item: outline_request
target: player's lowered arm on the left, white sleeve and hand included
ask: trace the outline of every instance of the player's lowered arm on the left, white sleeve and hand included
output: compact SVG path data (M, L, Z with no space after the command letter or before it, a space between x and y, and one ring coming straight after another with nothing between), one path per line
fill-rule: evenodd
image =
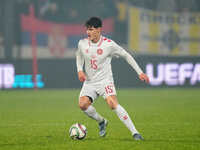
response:
M86 75L83 71L83 65L84 65L84 58L80 50L80 42L79 42L78 50L76 52L76 67L78 72L78 79L81 82L84 82L86 80Z

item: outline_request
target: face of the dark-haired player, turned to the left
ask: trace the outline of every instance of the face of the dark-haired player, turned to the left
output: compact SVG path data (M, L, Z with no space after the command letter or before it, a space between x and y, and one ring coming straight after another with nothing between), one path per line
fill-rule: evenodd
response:
M101 28L88 27L86 30L89 40L96 43L100 39Z

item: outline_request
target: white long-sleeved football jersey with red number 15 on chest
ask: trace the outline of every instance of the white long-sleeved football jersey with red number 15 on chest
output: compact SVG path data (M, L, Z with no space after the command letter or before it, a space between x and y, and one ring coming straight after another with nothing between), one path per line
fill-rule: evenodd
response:
M82 39L76 52L77 71L83 71L85 65L86 82L94 83L104 79L113 79L111 59L113 56L123 57L138 74L142 70L134 58L114 41L101 36L97 43Z

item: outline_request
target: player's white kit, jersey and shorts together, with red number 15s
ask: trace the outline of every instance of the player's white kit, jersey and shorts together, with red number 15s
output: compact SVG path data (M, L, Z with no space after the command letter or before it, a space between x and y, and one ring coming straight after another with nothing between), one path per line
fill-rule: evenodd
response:
M80 40L76 57L78 72L83 71L85 67L86 73L80 97L90 96L95 100L98 96L106 98L116 95L111 69L112 57L123 57L138 75L142 73L134 58L126 50L104 36L101 36L97 43L92 43L89 39Z

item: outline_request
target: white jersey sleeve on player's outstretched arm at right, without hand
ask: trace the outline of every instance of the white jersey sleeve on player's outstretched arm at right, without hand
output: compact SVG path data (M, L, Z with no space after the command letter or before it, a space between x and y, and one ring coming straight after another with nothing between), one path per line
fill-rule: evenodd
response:
M112 41L112 52L111 56L116 56L116 57L123 57L130 65L131 67L137 72L138 75L143 73L135 59L121 46L119 46L117 43Z

